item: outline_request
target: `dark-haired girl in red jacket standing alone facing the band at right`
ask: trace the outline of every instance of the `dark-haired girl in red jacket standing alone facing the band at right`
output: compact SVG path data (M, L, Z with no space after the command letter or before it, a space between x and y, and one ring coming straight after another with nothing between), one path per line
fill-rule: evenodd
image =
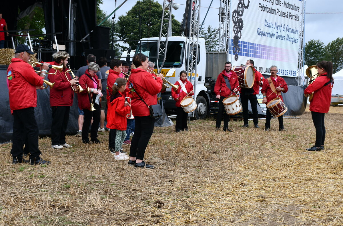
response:
M333 86L332 62L320 61L317 63L318 76L304 91L305 94L313 94L310 103L312 121L316 128L316 143L308 151L320 151L324 149L325 126L324 115L329 112L331 103L331 90Z

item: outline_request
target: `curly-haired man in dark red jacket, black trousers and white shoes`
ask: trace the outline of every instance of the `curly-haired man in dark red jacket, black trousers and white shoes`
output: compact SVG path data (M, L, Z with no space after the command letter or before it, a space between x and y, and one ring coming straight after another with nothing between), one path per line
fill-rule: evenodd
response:
M54 62L49 62L51 65L63 65L63 70L57 70L55 75L49 75L49 81L54 83L54 87L50 89L50 106L52 111L51 123L51 147L61 149L69 148L71 145L66 142L66 130L69 121L70 106L73 105L74 92L77 89L77 78L72 78L69 73L65 73L68 68L69 54L65 51L59 51L52 54ZM54 73L52 68L50 73ZM67 79L67 77L68 79Z

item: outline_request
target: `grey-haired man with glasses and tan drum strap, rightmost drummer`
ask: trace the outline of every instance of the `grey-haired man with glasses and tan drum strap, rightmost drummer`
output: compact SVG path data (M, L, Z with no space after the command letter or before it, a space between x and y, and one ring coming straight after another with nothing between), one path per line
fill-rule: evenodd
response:
M261 89L261 93L263 95L262 103L267 104L273 99L279 97L282 101L282 95L281 92L287 92L288 86L287 83L283 78L277 75L277 67L271 66L270 67L270 78L267 79L267 81L263 82L263 86ZM270 129L270 119L272 117L272 114L270 111L267 111L267 116L265 117L265 128L264 131L269 131ZM279 131L286 131L283 127L283 116L279 116Z

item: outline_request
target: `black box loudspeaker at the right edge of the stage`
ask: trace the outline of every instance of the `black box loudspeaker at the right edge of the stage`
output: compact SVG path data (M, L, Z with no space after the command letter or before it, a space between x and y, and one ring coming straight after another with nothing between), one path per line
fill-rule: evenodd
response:
M96 26L91 33L91 46L93 49L109 48L109 27Z

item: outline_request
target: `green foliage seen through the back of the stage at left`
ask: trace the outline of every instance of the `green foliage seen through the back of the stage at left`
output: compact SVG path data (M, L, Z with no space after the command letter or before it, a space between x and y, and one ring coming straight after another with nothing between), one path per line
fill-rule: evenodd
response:
M17 22L18 30L35 29L35 31L30 31L30 35L43 34L43 28L45 27L44 20L44 10L42 8L36 7L30 14L23 17ZM26 35L27 32L22 32L21 34ZM37 37L31 37L31 41ZM27 41L27 37L18 37L19 44L24 44Z

